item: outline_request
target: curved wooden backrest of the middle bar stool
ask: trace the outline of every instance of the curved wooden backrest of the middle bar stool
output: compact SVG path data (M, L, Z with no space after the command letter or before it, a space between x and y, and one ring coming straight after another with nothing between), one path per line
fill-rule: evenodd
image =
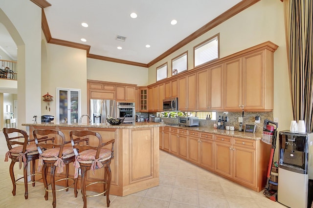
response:
M60 147L59 158L62 157L63 147L65 145L65 136L62 131L54 129L35 129L33 135L39 154L43 153L41 148L50 149ZM57 144L55 143L56 138L58 139Z

